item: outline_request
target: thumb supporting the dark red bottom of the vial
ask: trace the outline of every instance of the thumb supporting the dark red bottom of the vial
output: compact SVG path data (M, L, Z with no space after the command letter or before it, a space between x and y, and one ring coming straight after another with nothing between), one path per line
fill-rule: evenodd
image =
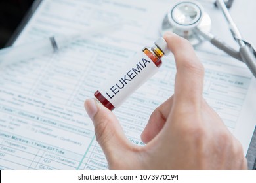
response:
M96 140L100 144L109 164L133 146L125 137L116 116L95 99L85 101L85 110L93 120Z

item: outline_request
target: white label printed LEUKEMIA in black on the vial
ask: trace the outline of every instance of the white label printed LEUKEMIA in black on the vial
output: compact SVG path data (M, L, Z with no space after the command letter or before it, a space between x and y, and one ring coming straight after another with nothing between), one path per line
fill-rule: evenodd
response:
M139 52L98 91L117 108L157 71L154 62L144 52Z

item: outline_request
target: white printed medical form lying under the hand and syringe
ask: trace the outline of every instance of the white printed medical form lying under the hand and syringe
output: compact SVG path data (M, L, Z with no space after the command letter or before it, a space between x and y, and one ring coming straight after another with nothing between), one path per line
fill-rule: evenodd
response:
M160 22L164 11L152 12L156 7L166 9L169 3L139 2L43 1L16 44L72 33L110 18L128 23L113 33L74 41L59 54L1 70L1 169L108 168L83 101L137 50L158 38L158 27L152 22ZM255 110L252 76L242 63L225 56L198 55L206 69L204 96L246 152L255 127L247 115ZM160 72L114 111L135 144L143 145L140 133L152 110L172 95L174 78L175 65L169 56Z

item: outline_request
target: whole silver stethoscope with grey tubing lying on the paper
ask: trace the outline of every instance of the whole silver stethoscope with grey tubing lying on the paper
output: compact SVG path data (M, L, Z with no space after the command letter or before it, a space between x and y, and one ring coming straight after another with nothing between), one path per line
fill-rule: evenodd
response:
M202 5L197 1L183 1L174 5L163 19L161 25L161 35L167 31L172 31L181 37L188 39L193 46L207 40L217 48L226 52L226 54L243 61L251 70L256 78L256 51L249 42L242 39L236 24L229 14L228 8L223 0L216 1L217 6L221 8L226 20L228 21L230 31L234 40L238 42L239 51L234 50L223 41L210 33L211 18L203 10Z

